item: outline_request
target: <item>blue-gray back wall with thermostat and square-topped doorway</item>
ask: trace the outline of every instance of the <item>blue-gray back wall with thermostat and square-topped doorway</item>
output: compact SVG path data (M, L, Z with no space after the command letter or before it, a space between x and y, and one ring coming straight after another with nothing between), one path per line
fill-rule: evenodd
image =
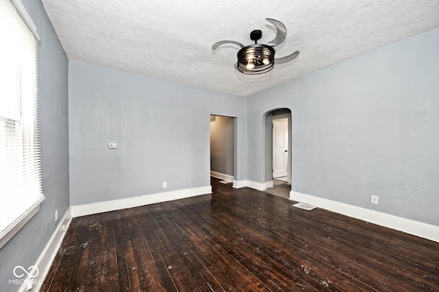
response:
M246 179L245 109L244 97L71 61L71 205L210 185L211 114L237 117Z

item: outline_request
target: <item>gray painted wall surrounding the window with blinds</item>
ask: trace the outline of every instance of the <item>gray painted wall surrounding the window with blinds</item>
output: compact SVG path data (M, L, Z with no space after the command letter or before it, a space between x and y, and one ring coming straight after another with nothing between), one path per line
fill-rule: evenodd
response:
M16 265L29 267L36 263L58 222L69 207L69 135L68 89L69 62L49 18L38 0L22 0L34 21L38 44L38 83L41 131L43 193L46 199L40 211L0 249L0 290L16 291L18 285L8 284L16 279Z

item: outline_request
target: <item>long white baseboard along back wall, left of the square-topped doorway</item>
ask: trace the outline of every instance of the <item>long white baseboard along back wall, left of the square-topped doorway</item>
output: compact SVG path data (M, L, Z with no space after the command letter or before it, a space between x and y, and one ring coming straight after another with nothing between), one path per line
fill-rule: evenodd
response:
M91 204L82 204L71 207L71 216L80 217L85 215L104 213L121 209L139 207L147 204L156 204L172 200L184 199L204 194L212 194L212 186L194 187L192 189L180 189L178 191L166 191L164 193L111 200L105 202L96 202Z

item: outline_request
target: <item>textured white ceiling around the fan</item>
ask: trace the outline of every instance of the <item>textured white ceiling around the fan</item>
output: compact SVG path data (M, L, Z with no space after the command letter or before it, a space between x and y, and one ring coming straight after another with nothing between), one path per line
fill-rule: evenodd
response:
M439 27L437 0L43 0L71 60L200 88L248 96L344 59ZM233 67L238 47L272 40L274 18L287 27L276 57L294 61L263 75Z

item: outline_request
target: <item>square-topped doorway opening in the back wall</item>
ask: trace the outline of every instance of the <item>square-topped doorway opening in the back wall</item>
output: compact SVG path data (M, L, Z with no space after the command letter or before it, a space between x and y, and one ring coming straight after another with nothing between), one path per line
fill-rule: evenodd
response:
M211 177L230 184L235 179L236 118L211 115Z

